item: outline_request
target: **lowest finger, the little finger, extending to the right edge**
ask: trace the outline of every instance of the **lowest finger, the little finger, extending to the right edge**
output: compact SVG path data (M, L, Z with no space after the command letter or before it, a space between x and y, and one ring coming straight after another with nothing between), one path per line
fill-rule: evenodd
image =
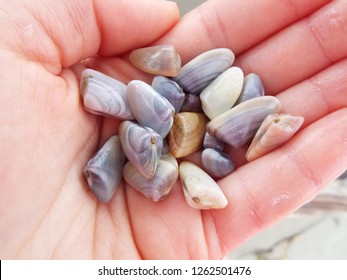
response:
M212 212L212 224L224 253L310 201L346 169L346 151L347 109L342 109L221 180L229 205Z

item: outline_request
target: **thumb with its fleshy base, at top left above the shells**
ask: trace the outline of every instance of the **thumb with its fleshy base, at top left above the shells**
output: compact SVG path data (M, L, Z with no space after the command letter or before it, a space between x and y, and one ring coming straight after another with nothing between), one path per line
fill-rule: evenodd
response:
M5 45L55 74L86 57L147 45L178 20L177 5L162 0L9 1L3 10Z

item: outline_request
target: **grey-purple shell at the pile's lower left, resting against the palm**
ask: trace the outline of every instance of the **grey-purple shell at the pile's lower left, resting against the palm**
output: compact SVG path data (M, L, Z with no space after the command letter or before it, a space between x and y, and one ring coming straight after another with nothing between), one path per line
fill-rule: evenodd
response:
M83 174L88 186L101 202L108 202L116 192L122 180L124 162L119 137L114 135L84 167Z

